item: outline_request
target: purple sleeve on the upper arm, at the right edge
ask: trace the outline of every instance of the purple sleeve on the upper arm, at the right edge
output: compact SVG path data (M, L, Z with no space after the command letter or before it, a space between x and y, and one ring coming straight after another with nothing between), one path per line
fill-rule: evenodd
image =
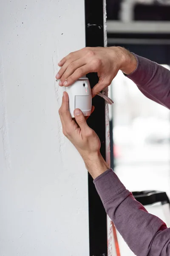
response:
M138 63L136 70L126 76L147 98L170 109L170 70L156 62L134 55Z

